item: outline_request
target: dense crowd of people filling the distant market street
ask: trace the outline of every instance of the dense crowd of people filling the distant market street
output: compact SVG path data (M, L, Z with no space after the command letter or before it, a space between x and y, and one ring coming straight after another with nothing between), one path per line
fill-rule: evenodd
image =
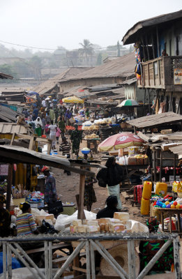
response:
M41 104L41 105L40 105ZM46 137L52 140L52 150L56 150L56 144L60 144L59 151L63 156L70 158L70 147L72 145L72 154L79 154L79 144L82 142L82 132L77 129L73 120L73 115L79 111L77 105L63 105L61 100L56 98L43 98L42 102L32 103L29 108L22 112L24 120L34 130L38 137ZM85 109L85 115L89 114L88 108ZM66 126L73 126L73 133L68 137Z

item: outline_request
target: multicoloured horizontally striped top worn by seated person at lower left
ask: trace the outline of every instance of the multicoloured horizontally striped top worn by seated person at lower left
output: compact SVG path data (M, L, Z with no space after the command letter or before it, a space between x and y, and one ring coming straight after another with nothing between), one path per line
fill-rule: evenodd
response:
M32 234L36 230L36 223L31 213L23 213L17 216L17 235Z

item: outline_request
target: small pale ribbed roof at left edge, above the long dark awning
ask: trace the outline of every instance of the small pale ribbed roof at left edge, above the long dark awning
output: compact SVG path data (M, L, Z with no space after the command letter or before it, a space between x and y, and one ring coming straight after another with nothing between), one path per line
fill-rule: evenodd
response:
M4 123L0 122L0 133L1 134L29 134L31 132L30 128L26 128L22 125L17 125L17 123Z

